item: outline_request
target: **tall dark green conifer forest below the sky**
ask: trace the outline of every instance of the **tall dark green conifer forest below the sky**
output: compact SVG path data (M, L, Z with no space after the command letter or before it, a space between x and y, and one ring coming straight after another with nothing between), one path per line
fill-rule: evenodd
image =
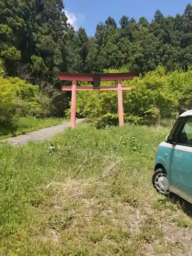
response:
M68 23L62 0L1 0L0 61L4 78L37 85L62 115L69 94L61 92L57 72L103 72L125 68L142 75L163 66L186 72L192 63L192 6L151 23L143 16L113 17L98 23L94 36Z

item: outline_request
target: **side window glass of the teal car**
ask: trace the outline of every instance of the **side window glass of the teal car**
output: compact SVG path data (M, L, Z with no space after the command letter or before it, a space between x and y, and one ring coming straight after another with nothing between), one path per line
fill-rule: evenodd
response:
M192 146L192 118L188 118L178 134L178 144Z

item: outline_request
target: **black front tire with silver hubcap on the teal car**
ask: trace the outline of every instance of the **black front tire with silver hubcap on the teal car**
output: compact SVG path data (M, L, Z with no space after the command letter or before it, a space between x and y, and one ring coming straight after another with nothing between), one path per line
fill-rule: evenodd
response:
M152 182L153 186L155 187L159 194L168 195L170 193L169 181L164 169L157 169L154 172Z

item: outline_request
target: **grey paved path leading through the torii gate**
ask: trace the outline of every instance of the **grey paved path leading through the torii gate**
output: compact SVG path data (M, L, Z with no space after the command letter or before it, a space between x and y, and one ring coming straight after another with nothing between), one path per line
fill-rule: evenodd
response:
M84 119L77 119L76 123L80 123L84 121ZM17 137L11 137L8 139L0 140L0 142L11 142L13 145L23 145L26 144L28 141L34 140L45 140L51 138L53 135L57 133L62 133L63 129L70 127L70 122L65 122L62 124L58 124L52 127L44 128L39 131L27 133L24 135L19 135Z

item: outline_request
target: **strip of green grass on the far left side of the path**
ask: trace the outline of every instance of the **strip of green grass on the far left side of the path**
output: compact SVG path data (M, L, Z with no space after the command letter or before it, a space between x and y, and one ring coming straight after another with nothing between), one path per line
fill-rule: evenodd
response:
M64 121L63 118L54 118L54 117L49 117L49 118L36 118L32 116L19 117L17 122L17 131L14 134L7 134L7 135L0 136L0 140L30 133L46 127L53 126L53 125L57 125L62 123L63 121Z

